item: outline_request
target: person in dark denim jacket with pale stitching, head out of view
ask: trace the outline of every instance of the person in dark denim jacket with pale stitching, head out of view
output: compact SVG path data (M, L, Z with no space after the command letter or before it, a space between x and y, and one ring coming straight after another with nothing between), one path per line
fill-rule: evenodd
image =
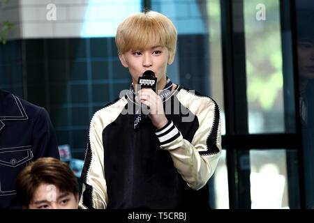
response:
M0 209L22 208L14 188L17 174L39 157L59 159L45 109L0 90L0 152Z

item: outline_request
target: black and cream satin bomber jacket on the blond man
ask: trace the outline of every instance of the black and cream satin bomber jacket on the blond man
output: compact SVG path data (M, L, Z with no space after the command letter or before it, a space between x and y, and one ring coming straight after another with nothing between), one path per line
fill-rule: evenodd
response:
M209 208L220 152L216 102L177 86L163 99L167 125L134 130L128 93L91 119L80 208Z

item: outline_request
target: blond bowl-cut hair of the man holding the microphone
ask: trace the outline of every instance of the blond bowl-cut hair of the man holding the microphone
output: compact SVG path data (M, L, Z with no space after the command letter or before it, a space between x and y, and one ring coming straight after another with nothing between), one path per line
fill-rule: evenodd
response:
M135 13L119 24L116 44L119 54L130 49L167 47L172 60L177 48L177 29L170 19L155 11Z

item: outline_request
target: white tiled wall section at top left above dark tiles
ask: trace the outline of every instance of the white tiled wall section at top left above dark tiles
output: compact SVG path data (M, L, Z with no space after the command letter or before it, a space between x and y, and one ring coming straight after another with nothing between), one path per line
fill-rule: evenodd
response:
M8 38L107 37L140 8L140 0L10 0L0 7L0 22L15 24Z

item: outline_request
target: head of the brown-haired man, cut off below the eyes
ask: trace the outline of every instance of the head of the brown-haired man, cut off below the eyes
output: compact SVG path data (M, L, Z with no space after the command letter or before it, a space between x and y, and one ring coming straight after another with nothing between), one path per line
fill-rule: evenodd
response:
M17 198L24 209L77 209L78 184L66 162L44 157L19 174Z

